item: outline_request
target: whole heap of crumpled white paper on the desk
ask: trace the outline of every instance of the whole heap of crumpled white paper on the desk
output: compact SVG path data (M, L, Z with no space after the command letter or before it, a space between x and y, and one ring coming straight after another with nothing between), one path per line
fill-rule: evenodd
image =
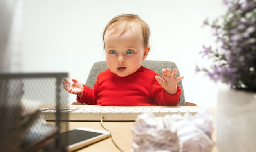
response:
M155 117L138 115L132 126L131 152L211 152L215 123L209 109Z

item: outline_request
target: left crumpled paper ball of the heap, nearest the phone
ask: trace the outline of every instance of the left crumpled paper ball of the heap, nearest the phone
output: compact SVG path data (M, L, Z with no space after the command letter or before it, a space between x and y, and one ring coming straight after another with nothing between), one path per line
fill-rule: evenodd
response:
M153 113L139 115L132 127L132 152L155 152L168 150L179 152L177 130L170 115L155 117ZM168 152L166 151L166 152Z

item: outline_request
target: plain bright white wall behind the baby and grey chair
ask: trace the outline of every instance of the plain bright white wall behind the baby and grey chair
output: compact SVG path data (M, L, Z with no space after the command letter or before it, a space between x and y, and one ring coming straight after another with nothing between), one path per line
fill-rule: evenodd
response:
M112 17L135 13L151 29L147 59L174 61L185 78L187 102L215 106L217 85L196 64L208 64L198 54L211 44L211 30L201 28L206 17L222 15L221 0L24 0L24 72L68 72L85 83L92 64L105 60L102 32ZM76 100L70 95L70 103Z

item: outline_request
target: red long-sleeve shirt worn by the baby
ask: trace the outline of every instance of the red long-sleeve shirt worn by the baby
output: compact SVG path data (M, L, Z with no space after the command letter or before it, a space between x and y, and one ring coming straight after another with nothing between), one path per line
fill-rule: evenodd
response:
M83 85L84 91L77 101L103 106L177 106L181 89L168 94L157 82L153 70L141 66L135 73L119 77L109 69L97 77L93 89Z

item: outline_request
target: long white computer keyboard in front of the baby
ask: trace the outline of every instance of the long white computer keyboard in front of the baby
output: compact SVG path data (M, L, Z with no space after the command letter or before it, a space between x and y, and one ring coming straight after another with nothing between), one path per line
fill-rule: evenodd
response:
M55 120L55 108L40 108L43 119ZM101 116L104 116L103 121L135 121L137 116L142 113L153 113L156 117L184 114L186 112L192 115L198 112L195 107L83 107L83 108L61 108L61 113L68 113L69 121L100 121Z

